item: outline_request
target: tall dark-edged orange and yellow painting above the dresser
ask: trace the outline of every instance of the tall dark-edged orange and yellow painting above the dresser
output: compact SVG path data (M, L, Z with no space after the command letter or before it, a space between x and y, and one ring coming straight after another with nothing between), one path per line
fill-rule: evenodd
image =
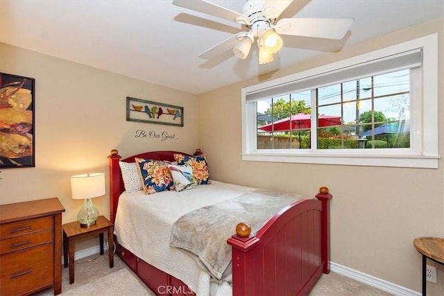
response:
M35 79L0 73L0 168L35 166Z

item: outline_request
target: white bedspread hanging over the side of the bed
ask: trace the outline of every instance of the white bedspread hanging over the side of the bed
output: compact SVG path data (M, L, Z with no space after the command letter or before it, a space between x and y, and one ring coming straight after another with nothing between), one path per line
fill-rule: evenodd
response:
M189 211L255 190L214 180L212 183L181 192L163 191L151 195L143 191L124 192L119 198L114 224L114 233L123 247L182 280L199 296L210 295L210 276L200 270L191 256L169 247L173 223Z

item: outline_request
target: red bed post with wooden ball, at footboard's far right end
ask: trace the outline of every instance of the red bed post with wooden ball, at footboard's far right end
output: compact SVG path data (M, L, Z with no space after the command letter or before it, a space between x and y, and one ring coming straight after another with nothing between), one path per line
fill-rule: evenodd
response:
M324 261L323 272L330 273L330 200L333 195L329 193L327 187L321 187L316 198L322 202L322 260Z

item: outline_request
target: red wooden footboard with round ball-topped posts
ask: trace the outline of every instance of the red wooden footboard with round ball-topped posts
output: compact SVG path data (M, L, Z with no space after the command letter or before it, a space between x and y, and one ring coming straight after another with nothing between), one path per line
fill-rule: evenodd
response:
M332 195L322 191L318 200L300 200L283 209L255 236L237 231L228 239L233 295L307 295L322 272L330 272L327 219Z

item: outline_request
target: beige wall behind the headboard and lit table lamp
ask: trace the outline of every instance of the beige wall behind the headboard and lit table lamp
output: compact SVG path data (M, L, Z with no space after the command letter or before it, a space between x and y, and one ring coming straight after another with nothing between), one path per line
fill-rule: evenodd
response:
M66 209L63 223L71 222L82 200L71 199L69 177L103 172L107 193L93 202L99 214L109 218L111 149L123 157L147 150L196 149L198 105L193 94L3 43L0 71L35 78L35 168L0 170L0 204L56 196ZM148 65L147 71L152 71ZM184 107L184 127L126 121L126 96ZM166 131L175 139L135 138L139 129Z

